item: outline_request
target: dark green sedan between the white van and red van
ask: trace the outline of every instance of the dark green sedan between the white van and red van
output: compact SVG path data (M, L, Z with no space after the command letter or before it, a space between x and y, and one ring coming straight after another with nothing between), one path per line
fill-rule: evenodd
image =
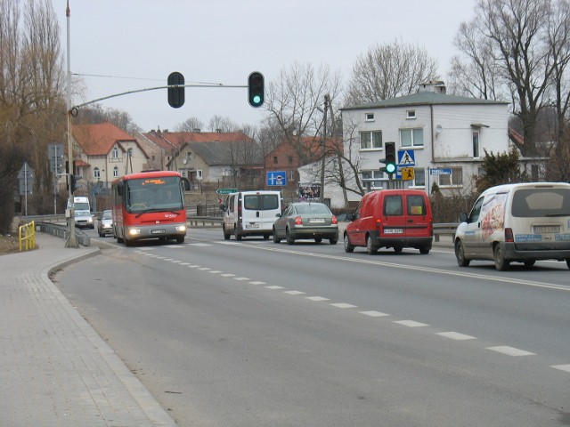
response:
M273 242L280 243L282 238L287 239L289 245L299 238L311 238L316 243L327 238L330 245L336 245L337 217L322 203L291 203L273 223Z

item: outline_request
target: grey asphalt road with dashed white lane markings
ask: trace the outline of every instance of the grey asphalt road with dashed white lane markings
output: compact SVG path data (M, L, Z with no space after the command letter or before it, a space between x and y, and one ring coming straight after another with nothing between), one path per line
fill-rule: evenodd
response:
M566 263L105 241L57 284L180 425L570 425Z

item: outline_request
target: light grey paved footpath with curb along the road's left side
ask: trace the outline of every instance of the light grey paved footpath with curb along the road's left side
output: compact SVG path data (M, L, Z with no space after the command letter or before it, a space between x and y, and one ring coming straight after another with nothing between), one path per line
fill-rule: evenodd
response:
M0 256L0 426L175 426L49 279L99 249L37 246Z

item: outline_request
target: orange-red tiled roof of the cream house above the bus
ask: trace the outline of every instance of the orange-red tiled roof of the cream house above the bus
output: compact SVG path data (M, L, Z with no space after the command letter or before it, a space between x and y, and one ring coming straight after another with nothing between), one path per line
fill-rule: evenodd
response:
M121 145L122 141L134 142L144 152L131 135L111 123L74 125L72 133L73 139L81 146L87 156L107 156L115 144L125 150Z

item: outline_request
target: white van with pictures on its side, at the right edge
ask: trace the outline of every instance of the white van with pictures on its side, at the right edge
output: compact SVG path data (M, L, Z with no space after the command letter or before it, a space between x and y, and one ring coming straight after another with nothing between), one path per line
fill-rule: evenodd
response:
M460 214L455 257L493 260L497 270L510 262L566 261L570 269L570 184L527 182L486 189L469 214Z

